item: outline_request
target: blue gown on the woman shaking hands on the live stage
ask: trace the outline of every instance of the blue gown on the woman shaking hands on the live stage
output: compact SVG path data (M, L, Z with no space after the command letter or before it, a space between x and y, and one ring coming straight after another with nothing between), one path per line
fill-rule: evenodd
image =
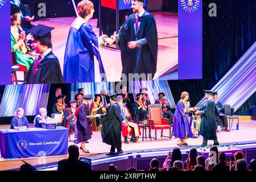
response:
M174 113L174 136L180 139L193 137L191 127L188 121L188 113L185 113L185 105L182 101L177 102L176 110Z

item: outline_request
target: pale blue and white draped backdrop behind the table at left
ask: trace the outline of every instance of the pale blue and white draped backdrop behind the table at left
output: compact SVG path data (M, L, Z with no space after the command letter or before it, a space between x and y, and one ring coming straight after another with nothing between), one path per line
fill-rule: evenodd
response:
M40 107L47 107L49 84L6 85L0 105L0 117L11 117L19 107L24 115L37 115Z

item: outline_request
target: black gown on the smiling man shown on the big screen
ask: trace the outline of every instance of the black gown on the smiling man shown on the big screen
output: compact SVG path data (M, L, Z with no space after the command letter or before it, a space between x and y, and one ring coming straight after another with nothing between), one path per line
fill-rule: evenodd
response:
M122 73L152 73L156 72L158 55L158 35L154 17L147 11L139 17L139 30L135 34L135 14L131 14L119 31L119 47L121 49ZM142 47L130 49L127 44L145 38L147 43ZM154 76L154 75L153 75Z

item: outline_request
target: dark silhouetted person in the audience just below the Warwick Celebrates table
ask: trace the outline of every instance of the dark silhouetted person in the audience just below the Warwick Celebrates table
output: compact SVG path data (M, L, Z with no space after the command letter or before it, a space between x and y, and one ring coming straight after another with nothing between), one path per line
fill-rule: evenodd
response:
M58 162L57 171L92 171L88 163L79 160L79 148L74 144L68 147L68 159Z

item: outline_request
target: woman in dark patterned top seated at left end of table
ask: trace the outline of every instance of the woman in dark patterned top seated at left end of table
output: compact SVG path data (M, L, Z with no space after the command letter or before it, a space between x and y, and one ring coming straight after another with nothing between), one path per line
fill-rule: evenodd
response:
M24 117L24 109L18 108L14 113L14 118L11 119L11 129L20 130L27 129L28 121L27 118Z

